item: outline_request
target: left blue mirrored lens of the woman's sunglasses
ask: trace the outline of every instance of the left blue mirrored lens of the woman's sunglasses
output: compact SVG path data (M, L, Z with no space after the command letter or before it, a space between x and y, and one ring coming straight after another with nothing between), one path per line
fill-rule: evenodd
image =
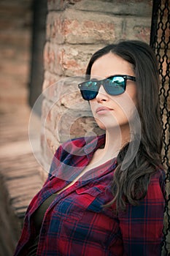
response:
M86 100L96 98L98 94L98 85L96 81L86 81L81 84L82 97Z

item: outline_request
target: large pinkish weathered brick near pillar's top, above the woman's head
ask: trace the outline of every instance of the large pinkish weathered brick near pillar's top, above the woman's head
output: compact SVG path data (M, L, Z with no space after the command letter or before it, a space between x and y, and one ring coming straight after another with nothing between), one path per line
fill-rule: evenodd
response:
M65 10L52 12L47 18L47 39L61 44L109 43L115 39L115 23L121 23L121 17L99 15L95 13Z

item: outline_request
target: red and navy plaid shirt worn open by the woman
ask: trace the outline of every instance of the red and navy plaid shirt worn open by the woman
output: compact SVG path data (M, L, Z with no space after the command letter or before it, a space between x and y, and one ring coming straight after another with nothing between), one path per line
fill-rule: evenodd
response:
M58 148L47 181L28 206L15 256L27 255L34 241L31 219L34 211L47 197L74 180L75 173L81 173L104 140L104 135L90 142L79 138ZM147 195L140 200L139 206L128 204L126 211L115 214L115 205L102 207L112 200L110 181L115 167L113 159L87 172L74 185L56 195L45 213L36 255L161 255L162 171L152 176Z

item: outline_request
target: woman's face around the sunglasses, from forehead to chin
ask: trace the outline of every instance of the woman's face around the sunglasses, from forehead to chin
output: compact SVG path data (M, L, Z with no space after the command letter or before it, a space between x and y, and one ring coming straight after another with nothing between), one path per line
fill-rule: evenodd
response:
M107 53L97 59L91 68L91 78L98 80L111 75L135 76L132 65L113 53ZM123 94L113 96L107 94L101 85L95 99L90 100L93 116L101 129L126 127L133 118L137 105L136 83L126 81L126 90Z

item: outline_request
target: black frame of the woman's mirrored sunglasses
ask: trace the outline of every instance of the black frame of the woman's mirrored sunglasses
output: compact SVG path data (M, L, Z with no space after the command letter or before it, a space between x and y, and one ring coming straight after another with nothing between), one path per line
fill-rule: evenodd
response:
M107 89L107 81L108 81L108 79L116 78L116 77L120 77L120 78L124 79L124 85L122 86L124 91L120 92L119 94L114 94L114 90L113 90L113 93L111 94L110 91ZM82 98L85 99L85 100L91 100L91 99L96 98L96 96L98 94L98 90L100 89L101 86L104 86L104 90L107 91L107 93L109 95L123 94L125 92L125 89L126 89L126 81L127 80L136 81L136 78L134 76L131 76L131 75L111 75L111 76L109 76L109 78L104 78L102 80L86 80L85 82L80 83L78 86L79 86L80 92L82 94ZM91 90L91 91L93 91L93 97L85 97L85 94L83 93L84 91L90 91L89 89L82 89L82 86L85 86L85 84L88 83L88 82L95 82L96 83L96 90L95 91ZM113 87L113 89L114 89L114 87ZM94 94L94 92L96 92L96 93Z

